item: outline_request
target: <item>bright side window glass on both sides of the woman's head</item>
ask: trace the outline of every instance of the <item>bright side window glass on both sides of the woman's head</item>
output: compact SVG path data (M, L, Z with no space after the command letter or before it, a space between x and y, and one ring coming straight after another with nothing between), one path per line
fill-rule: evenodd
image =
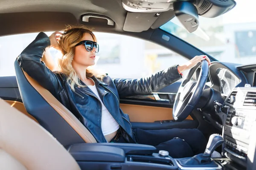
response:
M48 36L51 33L46 32ZM119 34L94 34L99 43L94 67L102 73L108 73L112 78L140 78L188 61L179 54L149 41ZM37 35L38 33L31 33L0 37L0 76L15 76L16 57ZM49 53L58 67L60 51L50 48Z

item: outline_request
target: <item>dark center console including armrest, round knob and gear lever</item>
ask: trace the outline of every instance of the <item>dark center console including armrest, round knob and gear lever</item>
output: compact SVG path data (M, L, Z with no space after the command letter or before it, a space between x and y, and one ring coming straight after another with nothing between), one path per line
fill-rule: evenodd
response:
M73 144L67 150L82 170L221 170L211 154L223 142L222 136L212 134L204 153L183 159L173 159L165 150L153 153L156 148L144 144Z

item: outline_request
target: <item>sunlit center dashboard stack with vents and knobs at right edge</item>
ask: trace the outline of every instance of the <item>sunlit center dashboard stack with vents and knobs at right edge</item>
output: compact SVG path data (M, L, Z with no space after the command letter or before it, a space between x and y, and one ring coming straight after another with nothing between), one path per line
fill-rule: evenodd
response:
M256 88L235 88L225 105L228 109L223 127L223 156L247 170L255 170Z

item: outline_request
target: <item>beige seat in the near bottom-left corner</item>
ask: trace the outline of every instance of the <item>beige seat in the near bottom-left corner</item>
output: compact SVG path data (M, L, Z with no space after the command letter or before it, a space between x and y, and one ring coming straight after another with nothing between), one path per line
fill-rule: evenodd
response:
M0 170L80 170L53 136L0 99Z

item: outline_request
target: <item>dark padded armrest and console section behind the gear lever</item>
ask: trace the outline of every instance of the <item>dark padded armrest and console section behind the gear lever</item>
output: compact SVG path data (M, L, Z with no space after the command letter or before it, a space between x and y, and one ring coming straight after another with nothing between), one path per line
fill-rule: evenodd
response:
M156 148L144 144L73 144L69 153L82 170L178 170L169 153L153 153Z

